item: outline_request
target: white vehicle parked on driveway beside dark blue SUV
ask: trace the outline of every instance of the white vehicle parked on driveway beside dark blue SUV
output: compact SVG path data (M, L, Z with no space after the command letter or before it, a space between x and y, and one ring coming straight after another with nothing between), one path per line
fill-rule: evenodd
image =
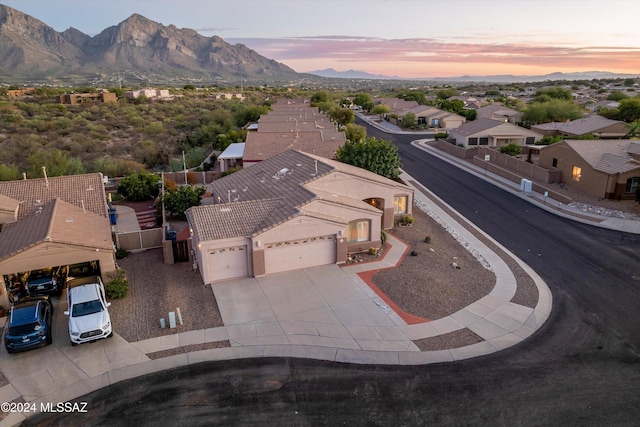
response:
M67 282L65 315L69 316L71 345L113 336L104 285L99 276L71 279Z

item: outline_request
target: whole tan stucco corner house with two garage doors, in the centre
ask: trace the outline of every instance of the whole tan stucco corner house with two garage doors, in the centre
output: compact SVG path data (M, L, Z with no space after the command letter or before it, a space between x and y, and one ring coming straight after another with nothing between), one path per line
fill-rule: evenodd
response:
M215 204L187 210L205 283L344 263L413 206L404 184L293 150L209 188Z

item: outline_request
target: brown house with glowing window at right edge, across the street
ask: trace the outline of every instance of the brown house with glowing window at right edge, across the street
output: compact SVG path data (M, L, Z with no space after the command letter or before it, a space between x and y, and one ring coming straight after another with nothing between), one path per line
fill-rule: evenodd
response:
M540 150L538 165L562 171L562 181L595 197L634 199L640 186L640 141L564 140Z

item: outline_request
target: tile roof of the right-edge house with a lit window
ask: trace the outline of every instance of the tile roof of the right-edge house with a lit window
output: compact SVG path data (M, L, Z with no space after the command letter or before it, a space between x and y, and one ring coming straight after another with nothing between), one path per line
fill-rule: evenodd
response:
M640 164L633 161L631 150L636 142L629 139L575 140L564 141L595 170L607 174L640 170ZM632 147L633 146L633 147Z

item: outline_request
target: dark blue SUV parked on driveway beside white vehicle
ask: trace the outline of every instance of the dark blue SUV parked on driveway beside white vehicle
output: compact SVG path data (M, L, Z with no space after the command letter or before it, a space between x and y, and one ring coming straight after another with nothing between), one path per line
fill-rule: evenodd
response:
M51 344L53 305L48 296L32 296L16 302L5 325L7 353L31 350Z

